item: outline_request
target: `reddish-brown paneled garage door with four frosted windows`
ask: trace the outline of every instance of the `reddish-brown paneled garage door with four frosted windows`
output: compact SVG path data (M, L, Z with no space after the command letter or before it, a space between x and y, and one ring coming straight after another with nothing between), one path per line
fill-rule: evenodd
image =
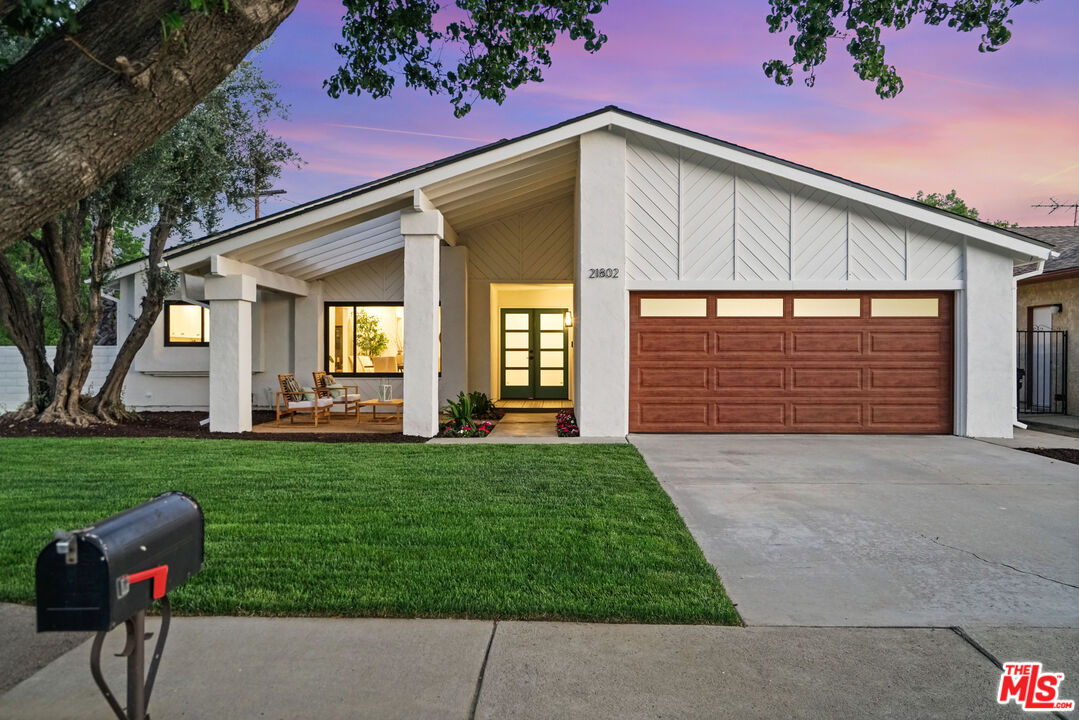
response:
M630 432L952 432L951 293L629 302Z

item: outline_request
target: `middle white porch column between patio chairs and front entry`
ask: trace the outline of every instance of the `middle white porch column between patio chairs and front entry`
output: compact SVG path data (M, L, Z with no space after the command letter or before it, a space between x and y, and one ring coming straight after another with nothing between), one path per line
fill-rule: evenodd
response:
M404 433L438 433L438 293L442 214L401 213L405 236Z

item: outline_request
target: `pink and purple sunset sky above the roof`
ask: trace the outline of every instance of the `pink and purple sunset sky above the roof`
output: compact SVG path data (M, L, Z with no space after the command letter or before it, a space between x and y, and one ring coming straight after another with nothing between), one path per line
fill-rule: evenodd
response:
M946 27L890 35L906 85L891 100L858 79L839 43L815 87L777 86L761 64L789 49L768 33L767 12L766 0L612 0L597 18L610 38L599 53L560 40L545 82L456 120L447 98L406 89L327 96L342 9L301 2L261 63L291 105L273 130L306 165L285 172L276 187L287 194L264 212L617 105L901 195L955 188L983 219L1071 223L1070 212L1030 205L1079 202L1079 2L1021 5L993 54Z

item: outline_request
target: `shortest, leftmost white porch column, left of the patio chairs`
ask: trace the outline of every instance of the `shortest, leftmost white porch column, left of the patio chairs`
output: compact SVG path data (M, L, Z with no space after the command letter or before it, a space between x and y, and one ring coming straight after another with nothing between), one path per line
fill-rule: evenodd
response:
M255 279L206 279L209 301L209 429L243 433L251 429L251 303Z

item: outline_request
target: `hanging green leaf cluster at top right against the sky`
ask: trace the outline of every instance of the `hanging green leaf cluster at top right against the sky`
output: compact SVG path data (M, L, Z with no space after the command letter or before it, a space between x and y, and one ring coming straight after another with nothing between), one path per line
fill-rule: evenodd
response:
M902 30L920 21L925 25L945 25L958 32L981 32L979 52L993 53L1011 39L1012 10L1023 2L1039 0L769 0L768 31L793 28L788 42L790 60L771 59L764 72L779 85L794 82L795 69L805 73L812 86L817 68L828 57L833 40L846 40L847 52L855 60L858 77L876 83L882 98L903 92L903 79L894 65L885 59L882 35Z

